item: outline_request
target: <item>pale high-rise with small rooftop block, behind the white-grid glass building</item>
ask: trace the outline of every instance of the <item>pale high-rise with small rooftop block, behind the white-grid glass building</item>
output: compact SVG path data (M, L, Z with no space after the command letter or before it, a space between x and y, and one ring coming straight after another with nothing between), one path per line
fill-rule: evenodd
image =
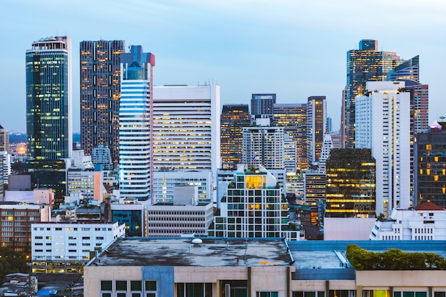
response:
M269 118L258 118L255 126L243 127L242 162L263 165L266 170L284 169L284 128L271 127Z

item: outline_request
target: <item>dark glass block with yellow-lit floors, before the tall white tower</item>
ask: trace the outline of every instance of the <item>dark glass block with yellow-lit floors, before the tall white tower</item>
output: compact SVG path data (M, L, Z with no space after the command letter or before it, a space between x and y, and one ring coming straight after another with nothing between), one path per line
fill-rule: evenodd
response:
M375 198L371 150L331 150L326 161L326 217L375 217Z

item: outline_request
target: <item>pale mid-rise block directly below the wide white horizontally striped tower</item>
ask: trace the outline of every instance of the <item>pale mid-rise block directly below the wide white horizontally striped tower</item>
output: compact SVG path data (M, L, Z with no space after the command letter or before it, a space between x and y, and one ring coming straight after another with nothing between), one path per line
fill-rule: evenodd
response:
M177 186L196 186L199 202L211 202L213 179L210 170L153 172L153 198L156 202L173 202Z

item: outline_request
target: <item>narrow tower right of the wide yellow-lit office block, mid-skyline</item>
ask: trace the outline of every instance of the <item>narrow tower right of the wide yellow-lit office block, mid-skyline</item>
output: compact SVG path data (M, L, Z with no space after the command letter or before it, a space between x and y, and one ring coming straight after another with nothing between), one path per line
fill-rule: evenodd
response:
M308 166L317 165L326 133L326 97L310 96L306 108L306 141Z

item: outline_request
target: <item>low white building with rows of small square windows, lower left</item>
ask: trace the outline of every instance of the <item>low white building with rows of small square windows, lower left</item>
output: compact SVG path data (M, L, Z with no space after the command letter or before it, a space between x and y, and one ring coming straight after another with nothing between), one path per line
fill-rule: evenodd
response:
M31 224L33 272L79 272L90 252L102 251L125 236L125 224L36 223Z

